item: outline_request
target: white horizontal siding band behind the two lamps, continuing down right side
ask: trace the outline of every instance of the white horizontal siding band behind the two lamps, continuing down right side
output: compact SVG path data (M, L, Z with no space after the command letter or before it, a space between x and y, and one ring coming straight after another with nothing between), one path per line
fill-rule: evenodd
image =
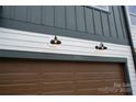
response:
M61 44L50 45L52 38L54 36L48 34L0 27L0 49L127 58L133 93L136 94L136 75L129 46L104 43L107 49L97 50L94 47L100 42L58 36Z

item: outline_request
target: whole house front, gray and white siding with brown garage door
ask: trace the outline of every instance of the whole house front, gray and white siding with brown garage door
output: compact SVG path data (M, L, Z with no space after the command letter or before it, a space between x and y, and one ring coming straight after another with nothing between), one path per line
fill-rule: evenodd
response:
M0 94L136 94L125 16L112 5L1 7Z

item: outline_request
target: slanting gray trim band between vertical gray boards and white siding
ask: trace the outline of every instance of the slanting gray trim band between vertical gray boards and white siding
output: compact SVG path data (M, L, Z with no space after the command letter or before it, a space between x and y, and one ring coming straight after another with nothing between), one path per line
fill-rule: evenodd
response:
M8 29L15 29L21 31L31 31L38 33L45 33L50 35L60 35L60 36L68 36L73 38L82 38L82 39L90 39L90 41L99 41L99 42L107 42L107 43L115 43L115 44L123 44L128 45L127 38L118 39L114 37L107 36L98 36L98 35L90 35L84 32L73 32L71 30L45 26L39 24L33 24L29 22L19 22L9 19L0 19L0 26L8 27Z

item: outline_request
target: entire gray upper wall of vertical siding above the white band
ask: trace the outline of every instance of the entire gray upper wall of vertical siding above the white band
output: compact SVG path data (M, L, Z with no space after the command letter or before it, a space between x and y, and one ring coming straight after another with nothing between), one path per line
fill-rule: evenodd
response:
M70 36L73 35L79 38L105 42L107 39L107 42L115 41L115 43L123 39L122 42L127 43L122 7L110 7L109 11L105 12L93 7L4 5L0 13L0 26L3 27L19 30L22 27L22 30L34 32L37 30L39 33L48 34L56 34L57 32L58 35L66 33L65 36L71 34ZM38 30L38 27L41 29ZM47 27L49 29L47 30Z

